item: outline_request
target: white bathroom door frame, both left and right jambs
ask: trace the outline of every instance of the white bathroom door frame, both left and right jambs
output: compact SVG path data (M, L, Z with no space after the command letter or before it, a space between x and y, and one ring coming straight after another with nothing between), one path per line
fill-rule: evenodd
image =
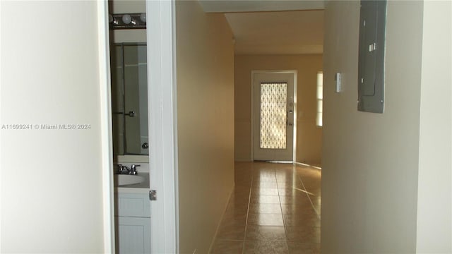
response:
M148 54L148 128L151 253L179 253L175 1L145 0ZM103 233L105 253L114 253L114 188L109 26L106 1L97 1L102 124ZM152 123L152 124L151 124Z

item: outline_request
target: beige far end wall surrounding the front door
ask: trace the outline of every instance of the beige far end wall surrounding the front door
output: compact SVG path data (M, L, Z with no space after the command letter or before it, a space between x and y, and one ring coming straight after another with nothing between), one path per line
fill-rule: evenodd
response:
M316 80L322 55L237 55L234 63L235 160L251 160L251 71L297 70L297 162L321 164Z

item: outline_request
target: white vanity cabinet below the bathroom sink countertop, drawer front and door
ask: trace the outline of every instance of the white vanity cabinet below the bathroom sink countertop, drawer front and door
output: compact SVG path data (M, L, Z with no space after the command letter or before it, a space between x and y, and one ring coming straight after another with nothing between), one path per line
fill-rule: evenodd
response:
M150 253L149 194L119 192L115 195L117 253Z

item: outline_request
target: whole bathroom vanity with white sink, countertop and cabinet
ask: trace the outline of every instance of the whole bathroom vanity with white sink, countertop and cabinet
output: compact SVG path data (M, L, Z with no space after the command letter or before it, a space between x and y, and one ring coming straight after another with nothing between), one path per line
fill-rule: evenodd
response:
M114 175L114 221L119 254L150 253L149 167L148 164L141 167L136 175Z

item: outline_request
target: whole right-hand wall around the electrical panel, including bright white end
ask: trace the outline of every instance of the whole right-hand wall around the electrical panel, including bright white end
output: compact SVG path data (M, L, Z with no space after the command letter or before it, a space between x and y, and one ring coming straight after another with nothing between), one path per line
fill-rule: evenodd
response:
M448 8L446 28L441 18L428 25L423 23L426 13L422 1L388 1L385 111L371 114L357 111L356 105L359 2L328 2L323 86L322 253L451 252L450 4ZM429 11L430 19L436 15ZM423 45L422 28L435 26L441 27L441 32L447 31L446 34L427 37L429 42ZM434 43L446 37L448 44L444 47ZM444 73L436 69L436 57L422 60L423 47L424 53L428 49L427 54L434 56L448 53L439 62L439 70ZM340 94L333 90L335 72L344 76L344 92ZM429 83L438 74L442 77L438 81L448 81L448 85ZM436 98L432 92L441 97ZM435 99L441 101L437 102L441 107L429 104ZM445 119L442 114L439 116L441 110L445 110ZM429 122L432 120L444 122L445 126L436 128L435 123ZM431 143L436 141L439 146ZM444 151L435 152L443 148ZM436 156L429 158L430 154ZM435 166L432 169L432 159L439 169ZM424 179L426 175L428 179ZM434 225L429 224L431 219ZM417 246L427 247L417 250Z

